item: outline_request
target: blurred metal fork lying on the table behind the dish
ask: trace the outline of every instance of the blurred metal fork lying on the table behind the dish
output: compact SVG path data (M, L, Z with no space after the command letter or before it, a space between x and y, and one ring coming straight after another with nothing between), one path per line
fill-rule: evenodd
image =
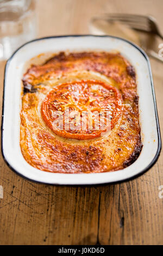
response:
M127 25L136 31L151 33L153 35L159 36L160 39L163 39L163 35L161 34L158 24L153 16L137 14L104 14L104 16L101 17L93 17L91 19L91 25L93 25L93 23L98 20L104 20L108 22L119 21L123 25ZM152 56L163 62L163 57L161 58L156 51L151 48L145 48L145 46L142 46L142 48L147 52L149 56Z

